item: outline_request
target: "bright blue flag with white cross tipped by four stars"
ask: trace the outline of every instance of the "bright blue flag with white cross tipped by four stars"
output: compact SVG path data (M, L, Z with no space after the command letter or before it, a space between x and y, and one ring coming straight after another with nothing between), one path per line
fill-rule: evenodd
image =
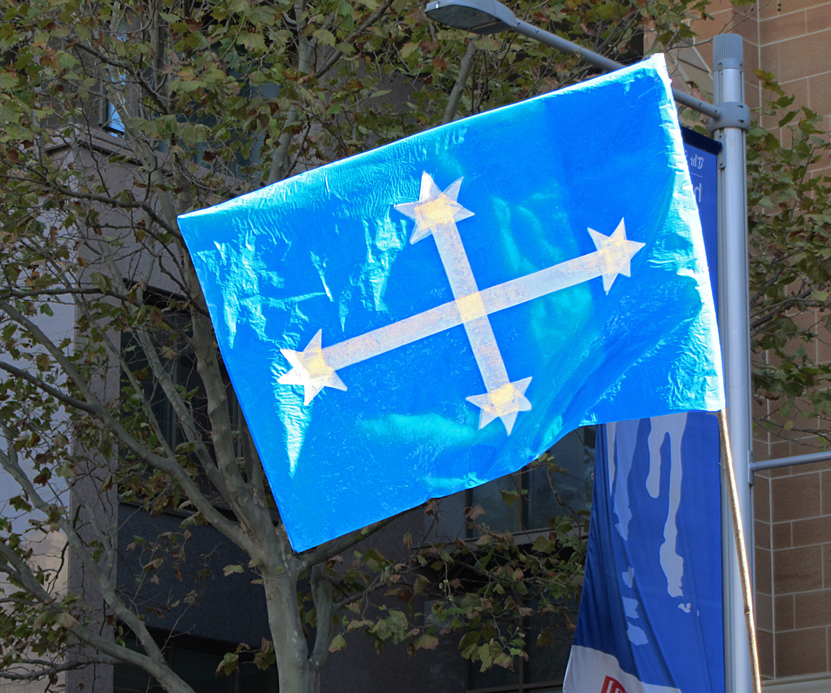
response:
M662 57L179 217L297 551L721 408Z

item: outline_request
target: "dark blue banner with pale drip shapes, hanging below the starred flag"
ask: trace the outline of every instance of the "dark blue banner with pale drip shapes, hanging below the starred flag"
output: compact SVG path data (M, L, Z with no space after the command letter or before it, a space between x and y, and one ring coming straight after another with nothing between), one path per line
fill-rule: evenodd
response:
M723 693L718 422L601 427L565 693Z

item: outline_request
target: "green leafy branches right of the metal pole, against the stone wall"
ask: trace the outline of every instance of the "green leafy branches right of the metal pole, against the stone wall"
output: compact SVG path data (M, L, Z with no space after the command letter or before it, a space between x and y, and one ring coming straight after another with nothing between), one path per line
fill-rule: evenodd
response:
M831 329L831 178L816 171L829 132L773 74L757 75L770 98L759 114L767 127L757 122L748 136L750 335L756 398L774 404L757 423L784 438L816 434L824 446L831 364L810 347L829 344Z

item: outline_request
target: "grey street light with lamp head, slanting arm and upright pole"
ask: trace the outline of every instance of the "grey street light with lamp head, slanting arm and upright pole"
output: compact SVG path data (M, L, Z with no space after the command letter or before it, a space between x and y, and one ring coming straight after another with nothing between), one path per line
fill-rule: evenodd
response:
M435 22L478 34L514 31L560 52L578 55L583 61L604 71L623 67L596 52L517 19L514 12L497 0L433 0L425 7L425 12ZM748 475L748 483L739 486L740 523L745 528L745 535L752 537L750 315L745 191L745 132L750 129L750 113L744 103L743 69L741 37L722 34L713 41L716 105L677 89L672 90L672 96L678 103L708 116L710 131L722 144L719 157L719 332L724 355L727 420L730 421L732 433L730 449L737 470ZM722 513L727 513L724 492ZM725 683L728 691L740 693L758 685L759 674L750 661L750 639L744 627L744 598L737 579L739 566L735 558L735 542L728 524L722 522L722 525L725 545ZM752 546L752 541L749 543Z

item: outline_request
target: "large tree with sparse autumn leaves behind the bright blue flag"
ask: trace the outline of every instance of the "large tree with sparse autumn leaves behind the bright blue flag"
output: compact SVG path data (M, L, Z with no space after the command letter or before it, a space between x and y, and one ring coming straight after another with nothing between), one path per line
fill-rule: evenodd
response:
M416 625L412 606L372 608L385 593L430 592L443 630L465 631L464 656L511 666L526 646L529 603L555 613L578 589L583 540L573 523L555 522L532 547L484 527L474 543L408 535L406 551L362 549L342 564L381 522L294 553L176 217L588 68L517 37L445 31L412 0L0 7L0 465L19 487L10 503L21 513L0 521L0 676L49 679L121 661L167 691L190 691L135 592L114 582L116 493L154 515L186 515L176 532L128 547L141 557L140 587L163 566L178 570L192 527L207 523L238 547L244 561L224 570L261 582L271 638L253 657L277 661L283 691L313 691L347 631L435 646L438 626ZM624 62L640 56L644 27L668 46L705 11L703 0L517 8ZM51 319L61 314L76 325L56 337ZM60 571L34 558L34 535L62 537L60 555L81 582L59 589ZM182 601L198 598L197 587ZM508 627L495 628L497 616ZM245 649L222 668L233 670Z

